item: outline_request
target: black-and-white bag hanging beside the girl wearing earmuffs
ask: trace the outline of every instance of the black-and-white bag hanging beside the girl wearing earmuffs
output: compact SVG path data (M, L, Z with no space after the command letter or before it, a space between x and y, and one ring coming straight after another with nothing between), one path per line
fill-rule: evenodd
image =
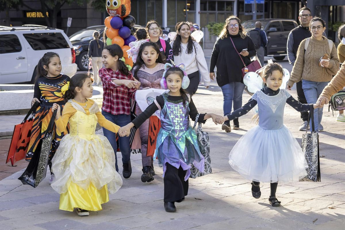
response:
M197 121L199 118L199 114L195 118L194 126L193 129L195 129ZM198 138L198 146L200 149L201 154L203 154L205 158L205 168L204 172L200 172L193 164L191 164L191 169L190 169L190 178L197 178L204 176L206 174L211 174L212 173L212 168L211 168L211 158L210 158L210 141L208 138L208 133L204 132L203 129L201 128L201 123L199 122L198 128L196 130L196 136Z

